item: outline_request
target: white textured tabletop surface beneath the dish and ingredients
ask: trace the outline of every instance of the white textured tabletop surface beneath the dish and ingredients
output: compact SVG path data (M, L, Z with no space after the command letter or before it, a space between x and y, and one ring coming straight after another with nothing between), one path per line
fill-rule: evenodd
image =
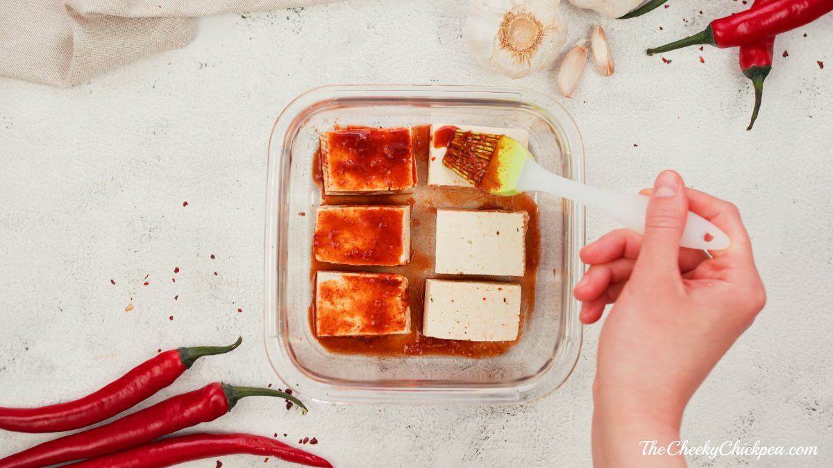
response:
M597 21L562 7L570 42ZM575 97L562 101L583 132L589 182L635 191L676 168L691 185L736 202L753 237L769 303L696 394L684 436L821 452L811 460L727 457L713 466L829 466L833 16L778 39L753 132L743 131L752 93L735 52L673 52L670 64L641 52L740 7L671 2L642 19L603 20L616 74L603 78L588 65ZM78 396L157 348L226 343L238 334L246 340L239 350L198 362L152 401L221 379L278 386L261 338L272 122L292 97L329 83L556 92L552 72L511 82L476 67L462 50L464 11L463 2L448 0L357 0L213 17L185 49L72 89L0 80L2 403ZM591 238L611 227L591 214ZM252 398L204 428L281 439L286 432L289 441L317 436L321 443L310 448L337 466L588 466L598 330L586 328L566 385L526 406L312 403L302 417ZM0 433L0 448L49 437ZM264 466L258 457L223 461Z

